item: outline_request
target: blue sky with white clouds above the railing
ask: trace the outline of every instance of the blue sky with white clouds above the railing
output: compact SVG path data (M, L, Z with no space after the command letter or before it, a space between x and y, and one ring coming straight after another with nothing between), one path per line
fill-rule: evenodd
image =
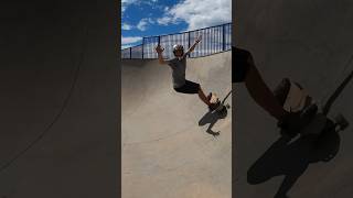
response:
M143 36L232 22L232 0L121 0L121 48Z

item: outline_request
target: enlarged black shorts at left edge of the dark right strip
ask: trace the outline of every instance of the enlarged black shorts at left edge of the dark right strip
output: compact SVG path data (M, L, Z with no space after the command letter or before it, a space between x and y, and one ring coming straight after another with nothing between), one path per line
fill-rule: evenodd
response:
M232 46L232 82L245 80L252 62L253 57L248 51Z

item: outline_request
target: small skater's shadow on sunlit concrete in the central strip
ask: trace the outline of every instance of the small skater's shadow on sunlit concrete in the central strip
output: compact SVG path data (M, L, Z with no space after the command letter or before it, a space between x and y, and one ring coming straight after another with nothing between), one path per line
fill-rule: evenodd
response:
M213 136L217 136L220 135L221 131L213 131L212 128L214 127L214 124L220 120L220 119L224 119L227 117L227 109L224 108L224 110L217 112L217 111L208 111L206 112L206 114L204 114L200 121L199 121L199 125L205 125L205 124L210 124L206 132L208 134L212 134Z

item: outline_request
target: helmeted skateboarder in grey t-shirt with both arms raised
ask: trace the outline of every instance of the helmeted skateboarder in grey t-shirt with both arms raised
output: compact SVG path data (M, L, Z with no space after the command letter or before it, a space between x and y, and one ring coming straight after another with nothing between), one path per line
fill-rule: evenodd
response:
M160 64L168 64L170 68L172 69L172 79L173 79L173 88L178 92L182 94L197 94L199 98L207 105L210 110L214 110L218 103L212 103L210 102L210 99L212 97L212 94L206 97L205 94L203 92L200 84L196 84L194 81L190 81L185 79L185 70L186 70L186 57L188 55L194 51L196 47L197 43L201 41L201 35L196 38L195 43L186 51L184 52L184 47L180 44L175 44L173 46L173 54L174 58L164 61L163 58L163 51L160 46L160 44L157 45L156 52L158 53L158 58Z

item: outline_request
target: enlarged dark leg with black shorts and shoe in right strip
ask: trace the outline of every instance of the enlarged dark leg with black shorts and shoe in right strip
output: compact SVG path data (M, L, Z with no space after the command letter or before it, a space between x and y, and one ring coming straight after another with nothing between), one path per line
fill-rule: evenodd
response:
M310 118L302 117L301 112L288 112L282 108L274 92L263 80L248 51L232 46L232 81L245 82L252 98L277 119L277 125L280 129L292 136L309 122Z

